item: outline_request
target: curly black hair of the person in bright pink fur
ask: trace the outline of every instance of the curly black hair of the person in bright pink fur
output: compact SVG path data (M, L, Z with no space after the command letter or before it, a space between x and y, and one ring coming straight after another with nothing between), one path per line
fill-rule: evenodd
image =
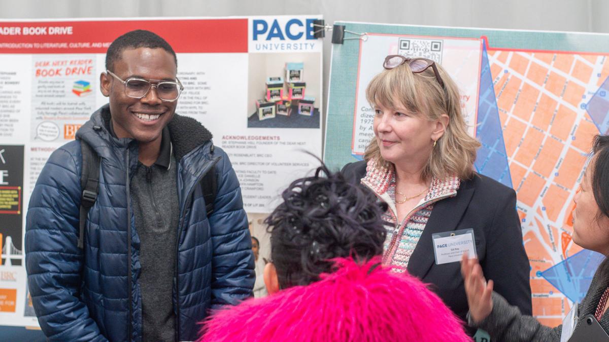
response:
M280 288L318 281L319 274L333 271L333 258L361 261L382 254L387 204L342 173L322 164L281 197L283 203L265 220Z

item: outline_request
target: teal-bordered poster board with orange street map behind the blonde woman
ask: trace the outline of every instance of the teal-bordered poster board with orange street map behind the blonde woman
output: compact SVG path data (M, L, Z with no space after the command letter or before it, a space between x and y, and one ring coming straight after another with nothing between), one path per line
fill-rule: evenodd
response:
M558 326L603 256L572 242L573 197L594 134L609 128L609 35L339 22L333 44L324 159L362 158L373 137L365 99L386 55L442 64L461 91L476 170L517 194L530 260L533 315ZM360 39L357 39L360 38Z

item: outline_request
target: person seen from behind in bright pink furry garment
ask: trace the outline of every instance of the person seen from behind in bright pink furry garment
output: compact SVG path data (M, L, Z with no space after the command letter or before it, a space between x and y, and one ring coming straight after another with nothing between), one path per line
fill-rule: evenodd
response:
M387 204L325 166L266 219L269 296L218 310L200 341L469 341L426 285L381 265Z

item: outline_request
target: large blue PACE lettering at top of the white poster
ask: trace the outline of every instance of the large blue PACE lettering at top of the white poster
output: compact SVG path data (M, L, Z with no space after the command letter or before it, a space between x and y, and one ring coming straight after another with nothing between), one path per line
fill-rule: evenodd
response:
M254 19L252 21L252 34L253 40L258 40L258 36L261 35L261 38L264 40L271 40L272 38L279 38L280 40L299 40L305 35L307 40L314 40L313 32L315 28L313 27L313 21L316 19L306 19L305 23L303 23L300 19L290 19L287 23L282 27L280 23L278 23L277 19L273 20L272 23L269 23L263 19ZM266 37L264 37L266 35Z

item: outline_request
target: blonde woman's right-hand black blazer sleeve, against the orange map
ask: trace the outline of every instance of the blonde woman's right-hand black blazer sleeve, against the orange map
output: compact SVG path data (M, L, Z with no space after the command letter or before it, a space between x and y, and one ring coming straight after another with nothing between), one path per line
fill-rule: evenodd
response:
M518 307L523 315L532 315L530 265L516 212L516 193L513 189L505 189L494 195L498 198L497 208L486 236L482 270L487 279L495 282L494 289L499 295Z

